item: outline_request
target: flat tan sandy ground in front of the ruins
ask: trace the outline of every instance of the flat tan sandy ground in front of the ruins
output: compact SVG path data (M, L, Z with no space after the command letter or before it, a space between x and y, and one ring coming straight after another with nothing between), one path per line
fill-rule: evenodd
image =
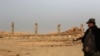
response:
M83 52L81 43L45 46L26 39L0 38L0 56L83 56Z

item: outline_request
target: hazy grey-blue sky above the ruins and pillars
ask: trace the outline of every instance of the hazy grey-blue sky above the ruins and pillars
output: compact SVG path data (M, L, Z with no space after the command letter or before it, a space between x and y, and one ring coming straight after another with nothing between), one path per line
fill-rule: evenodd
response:
M100 0L0 0L0 30L34 32L38 22L39 32L48 33L62 25L62 31L80 26L89 18L96 18L100 26Z

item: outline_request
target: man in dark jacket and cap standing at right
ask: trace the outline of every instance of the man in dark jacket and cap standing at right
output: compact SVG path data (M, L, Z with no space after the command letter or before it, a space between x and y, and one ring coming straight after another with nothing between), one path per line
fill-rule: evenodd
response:
M90 18L87 24L89 28L82 37L84 56L94 56L100 52L100 29L94 18Z

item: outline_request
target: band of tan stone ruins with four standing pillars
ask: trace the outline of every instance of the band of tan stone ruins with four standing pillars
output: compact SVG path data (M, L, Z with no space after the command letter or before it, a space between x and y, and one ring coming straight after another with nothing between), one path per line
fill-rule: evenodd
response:
M0 38L21 39L29 41L34 45L72 45L74 40L84 35L83 24L80 27L72 27L64 32L61 31L61 24L57 25L57 33L38 34L38 23L34 24L34 33L21 33L14 31L14 22L11 23L11 32L0 31ZM38 43L38 44L37 44Z

